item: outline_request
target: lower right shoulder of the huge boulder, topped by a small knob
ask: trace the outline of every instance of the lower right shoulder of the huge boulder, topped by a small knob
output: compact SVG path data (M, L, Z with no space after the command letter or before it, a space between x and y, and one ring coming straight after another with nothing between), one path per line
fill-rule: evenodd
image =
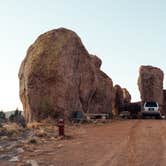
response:
M91 113L111 113L114 101L114 91L112 80L100 70L101 60L92 56L91 60L95 64L96 90L93 93L89 104L88 112Z

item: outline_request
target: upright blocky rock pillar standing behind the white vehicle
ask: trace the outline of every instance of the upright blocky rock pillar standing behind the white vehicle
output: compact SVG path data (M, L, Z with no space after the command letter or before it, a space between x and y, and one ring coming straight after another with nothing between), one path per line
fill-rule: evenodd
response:
M159 103L160 106L162 106L163 79L164 73L159 68L152 66L140 67L138 87L143 103L145 101L156 101Z

